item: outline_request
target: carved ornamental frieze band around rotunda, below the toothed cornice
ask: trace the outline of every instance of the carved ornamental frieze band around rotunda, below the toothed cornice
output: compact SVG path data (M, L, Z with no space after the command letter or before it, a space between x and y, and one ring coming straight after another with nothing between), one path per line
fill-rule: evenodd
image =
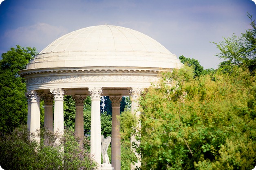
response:
M157 76L144 75L73 75L73 76L47 76L27 79L27 85L41 84L41 83L70 83L70 82L158 82Z

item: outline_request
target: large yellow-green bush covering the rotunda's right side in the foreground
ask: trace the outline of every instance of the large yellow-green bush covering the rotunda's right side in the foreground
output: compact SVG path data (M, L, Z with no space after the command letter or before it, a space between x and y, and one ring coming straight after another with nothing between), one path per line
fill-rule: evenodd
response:
M193 78L188 68L164 73L140 100L137 153L141 169L253 169L256 164L256 83L246 68ZM124 116L124 115L121 115ZM123 139L132 116L122 121ZM129 121L130 120L130 121ZM132 160L134 161L134 160Z

